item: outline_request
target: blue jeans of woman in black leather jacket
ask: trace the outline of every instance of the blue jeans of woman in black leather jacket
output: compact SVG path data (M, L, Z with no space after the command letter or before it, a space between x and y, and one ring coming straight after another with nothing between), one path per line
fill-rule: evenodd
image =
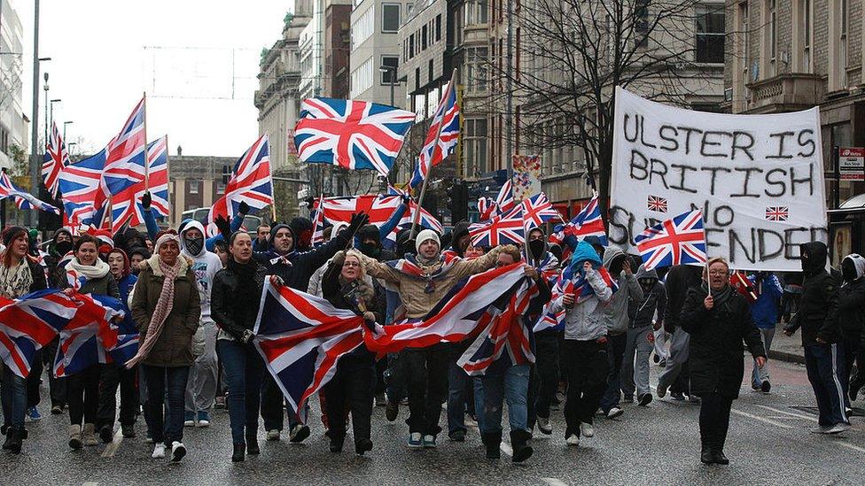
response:
M231 441L233 444L246 444L246 434L254 436L258 433L264 360L251 343L220 339L216 342L216 352L219 353L225 381L229 383L226 405L229 407ZM282 400L279 404L282 405Z

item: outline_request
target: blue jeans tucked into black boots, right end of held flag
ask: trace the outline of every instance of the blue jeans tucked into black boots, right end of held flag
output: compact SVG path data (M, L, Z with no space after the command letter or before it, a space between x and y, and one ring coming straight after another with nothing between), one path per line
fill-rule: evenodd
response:
M480 381L484 389L484 428L480 431L502 430L504 401L508 402L510 431L527 430L528 421L528 365L509 366L502 371L487 370ZM480 424L479 424L480 425Z

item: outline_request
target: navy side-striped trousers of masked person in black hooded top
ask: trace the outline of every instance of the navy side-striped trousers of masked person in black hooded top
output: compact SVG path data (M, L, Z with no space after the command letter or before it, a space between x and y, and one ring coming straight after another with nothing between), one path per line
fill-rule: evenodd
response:
M844 351L841 346L836 343L807 344L805 369L817 399L820 425L831 427L839 423L850 423L844 410L847 374L844 371Z

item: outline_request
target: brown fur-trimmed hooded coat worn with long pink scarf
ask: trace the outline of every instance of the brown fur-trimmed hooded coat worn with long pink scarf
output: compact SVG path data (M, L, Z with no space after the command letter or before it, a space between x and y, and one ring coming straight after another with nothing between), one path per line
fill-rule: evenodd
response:
M145 365L191 366L195 360L192 355L192 336L199 328L201 318L199 288L191 269L191 259L183 255L177 258L180 261L180 269L175 277L174 302L171 312L162 325L159 340L143 361ZM160 269L159 255L154 255L139 265L141 271L138 273L138 282L132 296L132 317L138 324L141 339L144 340L156 304L162 295L165 274Z

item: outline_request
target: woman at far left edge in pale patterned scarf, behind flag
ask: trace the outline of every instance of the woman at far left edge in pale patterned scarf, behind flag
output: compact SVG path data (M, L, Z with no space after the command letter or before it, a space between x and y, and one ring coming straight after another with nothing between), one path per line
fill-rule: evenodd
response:
M18 298L36 290L48 287L42 267L27 255L29 241L27 230L20 227L7 228L3 232L6 250L0 257L0 296ZM30 369L29 380L35 380L38 395L39 378L42 374L41 359L35 357ZM27 436L24 428L24 414L27 411L27 382L0 360L0 397L3 402L3 434L6 440L4 450L18 454L21 443Z

